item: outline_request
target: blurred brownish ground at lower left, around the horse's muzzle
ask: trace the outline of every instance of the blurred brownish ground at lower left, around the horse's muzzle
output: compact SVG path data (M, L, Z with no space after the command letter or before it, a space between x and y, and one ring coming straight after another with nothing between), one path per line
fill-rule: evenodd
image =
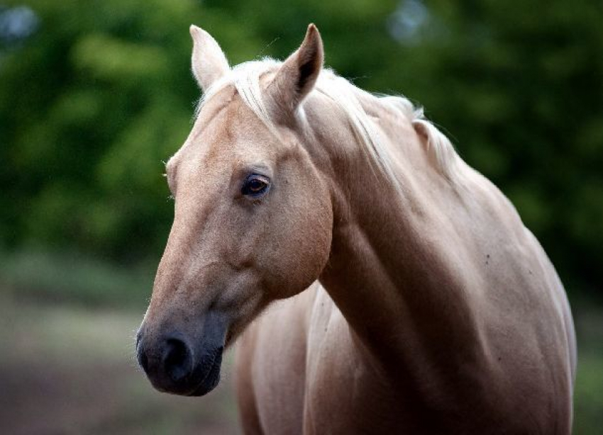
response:
M238 434L231 358L206 397L156 392L133 360L140 320L0 298L0 434Z

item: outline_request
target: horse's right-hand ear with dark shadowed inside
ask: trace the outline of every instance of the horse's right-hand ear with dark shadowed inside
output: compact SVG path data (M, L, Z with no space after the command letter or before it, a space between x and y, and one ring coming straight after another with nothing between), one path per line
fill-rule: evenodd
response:
M275 103L293 110L314 88L323 67L323 42L310 24L302 45L285 60L269 85Z

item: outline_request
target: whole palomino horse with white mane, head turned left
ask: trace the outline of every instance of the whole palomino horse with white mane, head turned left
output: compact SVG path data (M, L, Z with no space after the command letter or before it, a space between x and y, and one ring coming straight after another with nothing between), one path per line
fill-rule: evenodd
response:
M138 333L155 388L211 391L259 317L238 349L247 433L570 433L568 300L509 200L405 98L323 69L313 25L284 62L233 69L191 33L204 98L167 163Z

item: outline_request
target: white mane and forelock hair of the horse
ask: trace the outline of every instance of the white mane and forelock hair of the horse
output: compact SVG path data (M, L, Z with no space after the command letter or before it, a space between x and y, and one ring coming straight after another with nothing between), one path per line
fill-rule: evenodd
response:
M275 123L270 117L262 97L260 86L260 77L266 72L277 71L282 62L271 58L244 62L236 65L231 71L214 83L201 96L197 105L195 114L198 115L205 101L218 93L228 85L234 85L238 94L249 108L258 115L265 125L277 134ZM378 98L378 100L390 108L399 111L413 125L421 126L422 133L427 138L428 152L431 153L433 161L441 174L449 181L454 181L455 164L458 161L458 154L448 137L436 128L424 116L422 107L415 107L408 98L403 96L389 96L370 94L335 74L331 69L322 69L312 92L319 92L334 101L339 108L347 115L350 125L355 134L360 138L365 151L371 157L372 162L385 173L385 175L399 188L399 182L395 176L394 161L392 152L389 150L386 142L380 139L378 130L375 128L370 116L365 112L359 95L365 94ZM303 102L300 105L303 107Z

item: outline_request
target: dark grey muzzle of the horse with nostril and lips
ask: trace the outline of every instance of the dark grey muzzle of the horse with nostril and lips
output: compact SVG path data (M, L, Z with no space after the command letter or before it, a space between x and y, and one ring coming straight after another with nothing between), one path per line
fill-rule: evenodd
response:
M223 323L216 315L207 316L199 337L194 333L187 337L172 328L163 334L147 334L143 323L136 354L153 387L187 396L205 395L216 388L226 336Z

